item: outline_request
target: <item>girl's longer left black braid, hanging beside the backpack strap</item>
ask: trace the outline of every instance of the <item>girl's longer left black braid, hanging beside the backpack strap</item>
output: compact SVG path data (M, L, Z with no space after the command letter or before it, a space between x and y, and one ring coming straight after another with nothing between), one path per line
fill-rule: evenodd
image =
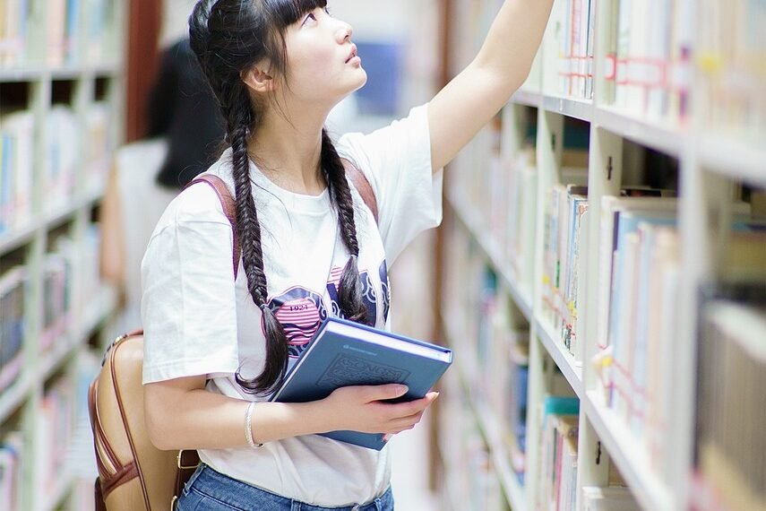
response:
M288 361L288 337L280 321L269 307L269 291L266 273L263 270L263 247L261 245L261 223L253 199L253 185L250 179L250 159L247 155L247 135L250 122L250 103L246 92L237 109L236 124L230 128L231 160L234 187L237 196L237 236L242 247L242 262L247 276L247 290L255 305L263 313L263 330L266 337L266 364L258 377L246 379L238 372L237 384L251 394L270 394L285 377Z

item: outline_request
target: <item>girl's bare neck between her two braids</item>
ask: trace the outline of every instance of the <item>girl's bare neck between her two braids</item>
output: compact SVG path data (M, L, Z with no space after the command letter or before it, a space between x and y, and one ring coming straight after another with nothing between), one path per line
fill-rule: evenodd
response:
M326 187L320 163L327 114L317 108L269 108L248 143L263 174L290 192L320 195Z

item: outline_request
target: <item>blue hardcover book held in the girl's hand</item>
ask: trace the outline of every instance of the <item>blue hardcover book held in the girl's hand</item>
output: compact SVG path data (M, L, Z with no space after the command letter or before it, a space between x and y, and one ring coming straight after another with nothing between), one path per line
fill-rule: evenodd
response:
M342 386L392 383L409 387L392 403L413 401L424 397L451 364L452 351L442 346L331 317L271 401L306 403ZM323 437L378 451L385 446L382 434L331 431Z

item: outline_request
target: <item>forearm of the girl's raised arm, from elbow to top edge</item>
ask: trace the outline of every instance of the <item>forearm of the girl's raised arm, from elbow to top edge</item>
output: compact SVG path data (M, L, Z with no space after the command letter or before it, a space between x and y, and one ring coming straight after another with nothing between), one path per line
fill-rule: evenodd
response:
M553 0L506 0L471 65L502 77L509 94L527 79Z

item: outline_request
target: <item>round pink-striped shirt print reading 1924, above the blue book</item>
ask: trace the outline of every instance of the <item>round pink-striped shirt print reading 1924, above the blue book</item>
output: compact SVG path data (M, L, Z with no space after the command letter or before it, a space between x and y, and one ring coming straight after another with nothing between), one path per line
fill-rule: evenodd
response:
M322 297L299 286L269 300L269 308L285 329L288 354L292 359L297 359L306 350L319 325L327 319Z

